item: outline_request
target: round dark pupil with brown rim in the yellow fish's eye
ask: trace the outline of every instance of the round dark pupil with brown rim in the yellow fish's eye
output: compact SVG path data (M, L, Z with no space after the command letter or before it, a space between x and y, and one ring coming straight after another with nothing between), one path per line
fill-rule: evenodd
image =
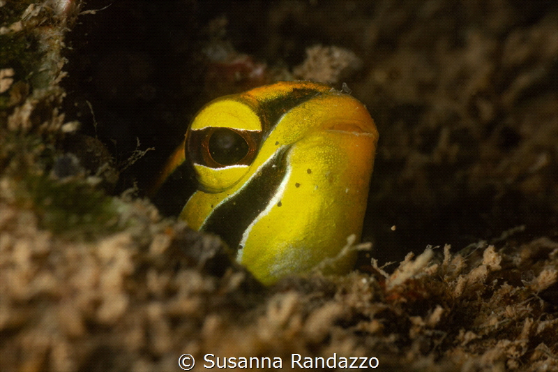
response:
M227 128L219 128L209 137L209 154L222 165L232 165L241 161L248 154L246 140Z

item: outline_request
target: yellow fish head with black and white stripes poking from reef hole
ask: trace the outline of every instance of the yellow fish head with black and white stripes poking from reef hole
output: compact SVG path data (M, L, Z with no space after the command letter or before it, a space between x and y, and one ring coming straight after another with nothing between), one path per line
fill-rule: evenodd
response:
M211 101L163 179L188 158L196 191L180 218L219 235L264 284L307 272L360 238L378 133L365 106L312 82ZM347 255L333 271L347 271Z

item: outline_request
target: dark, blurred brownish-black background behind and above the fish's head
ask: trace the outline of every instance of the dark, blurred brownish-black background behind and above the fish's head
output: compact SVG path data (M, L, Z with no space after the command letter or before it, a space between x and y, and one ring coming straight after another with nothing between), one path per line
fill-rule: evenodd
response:
M343 82L380 133L363 230L372 255L498 244L517 227L518 241L558 235L555 1L120 0L86 9L100 10L68 34L65 110L114 158L110 193L137 184L144 195L215 98L207 50L290 71L307 47L335 45L363 61ZM126 168L135 149L151 147ZM155 201L176 215L195 177L184 168L169 185Z

